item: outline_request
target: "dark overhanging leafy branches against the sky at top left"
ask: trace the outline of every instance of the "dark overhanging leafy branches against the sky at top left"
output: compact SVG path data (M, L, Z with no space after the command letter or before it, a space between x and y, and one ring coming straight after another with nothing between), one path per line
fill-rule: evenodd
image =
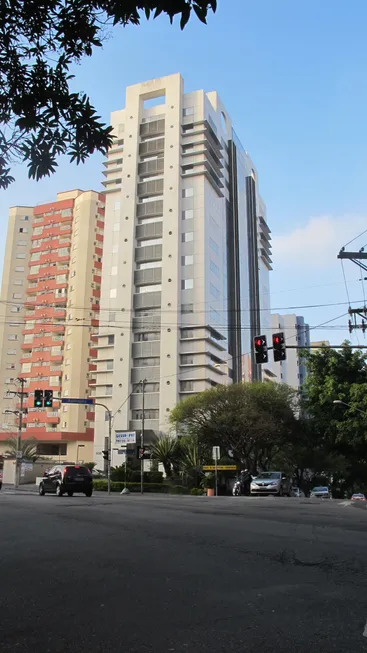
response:
M193 10L203 23L216 0L8 0L0 14L0 187L14 181L16 160L28 161L29 177L57 167L57 157L85 161L112 143L85 94L71 92L70 67L102 46L109 26L139 25L167 14L181 16L183 29Z

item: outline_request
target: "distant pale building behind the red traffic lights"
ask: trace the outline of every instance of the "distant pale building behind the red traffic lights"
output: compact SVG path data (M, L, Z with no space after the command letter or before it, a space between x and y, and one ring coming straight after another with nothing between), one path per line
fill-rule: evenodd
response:
M310 345L310 327L300 315L279 315L273 313L271 316L272 332L284 332L286 345L297 345L297 347L309 347ZM299 355L299 349L287 348L287 358L285 361L274 363L272 352L269 352L269 364L272 374L268 380L279 383L288 383L288 385L301 390L307 376L307 368L304 360ZM275 375L275 376L274 376Z

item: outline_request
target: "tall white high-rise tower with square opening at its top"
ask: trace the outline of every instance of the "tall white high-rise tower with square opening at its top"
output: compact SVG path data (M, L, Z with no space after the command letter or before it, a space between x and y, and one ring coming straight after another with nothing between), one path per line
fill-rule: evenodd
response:
M242 378L270 328L270 232L256 170L216 92L179 74L111 116L96 401L115 430L166 432L181 399ZM261 377L251 365L252 378ZM96 411L96 459L107 435Z

